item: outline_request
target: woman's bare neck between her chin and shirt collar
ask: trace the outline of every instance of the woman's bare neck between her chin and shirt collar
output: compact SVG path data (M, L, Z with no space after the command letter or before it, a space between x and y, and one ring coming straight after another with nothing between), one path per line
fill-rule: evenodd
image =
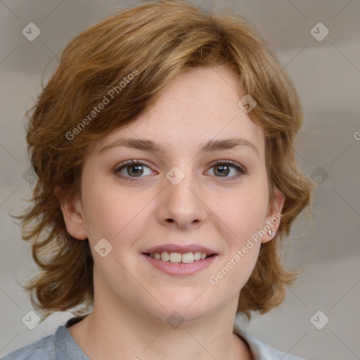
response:
M70 327L69 332L94 360L250 360L248 346L233 334L235 315L231 303L220 311L173 327L119 304L114 308L110 303L98 306L94 302L93 312Z

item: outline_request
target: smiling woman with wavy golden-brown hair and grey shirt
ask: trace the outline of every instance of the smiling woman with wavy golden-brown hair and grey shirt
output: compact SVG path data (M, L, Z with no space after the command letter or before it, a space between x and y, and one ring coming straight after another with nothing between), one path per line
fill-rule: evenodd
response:
M4 359L283 359L234 321L295 280L278 247L314 186L301 126L243 19L155 1L70 41L30 117L21 219L34 308L75 318Z

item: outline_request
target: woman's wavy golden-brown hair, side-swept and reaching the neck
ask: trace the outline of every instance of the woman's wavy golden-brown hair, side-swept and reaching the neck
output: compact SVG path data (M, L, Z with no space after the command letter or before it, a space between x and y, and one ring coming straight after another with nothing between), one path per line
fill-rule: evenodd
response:
M78 196L91 144L134 122L155 105L169 82L200 66L233 70L241 89L255 99L249 115L264 130L269 201L275 186L285 195L279 229L260 247L240 291L238 312L250 319L250 311L263 314L283 302L285 285L299 273L285 270L278 249L297 215L311 205L316 183L295 162L293 142L303 122L300 98L250 24L242 15L205 13L186 1L153 1L117 11L65 46L58 68L28 113L27 150L36 183L32 205L17 217L41 269L21 285L41 321L55 311L84 315L94 304L89 240L68 233L55 186ZM95 112L105 98L108 104Z

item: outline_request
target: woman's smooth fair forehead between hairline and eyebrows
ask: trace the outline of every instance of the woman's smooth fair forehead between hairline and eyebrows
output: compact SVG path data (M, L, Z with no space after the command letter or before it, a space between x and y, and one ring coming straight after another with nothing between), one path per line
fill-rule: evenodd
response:
M105 136L96 148L119 139L149 139L167 151L184 153L198 151L210 140L241 138L262 156L264 133L238 106L244 95L232 70L193 68L170 82L152 108Z

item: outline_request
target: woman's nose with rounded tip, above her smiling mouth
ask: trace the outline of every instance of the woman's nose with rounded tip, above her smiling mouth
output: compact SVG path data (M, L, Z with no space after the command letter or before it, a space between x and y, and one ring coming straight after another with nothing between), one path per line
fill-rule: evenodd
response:
M207 217L206 202L193 176L186 173L179 184L165 178L164 186L160 193L158 220L182 230L201 226Z

